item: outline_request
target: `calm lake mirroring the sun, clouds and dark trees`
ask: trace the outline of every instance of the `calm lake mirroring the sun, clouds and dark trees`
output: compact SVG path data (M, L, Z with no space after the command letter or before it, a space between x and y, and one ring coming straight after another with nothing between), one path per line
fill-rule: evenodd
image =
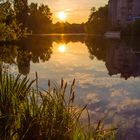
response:
M87 105L91 120L106 117L123 140L140 139L140 41L85 35L34 35L0 45L0 66L34 78L69 84L75 78L76 103Z

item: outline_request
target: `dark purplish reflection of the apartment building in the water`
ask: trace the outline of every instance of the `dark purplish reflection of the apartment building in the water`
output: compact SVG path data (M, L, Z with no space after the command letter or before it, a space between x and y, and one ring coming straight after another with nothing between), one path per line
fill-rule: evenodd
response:
M126 80L140 76L140 52L121 41L106 50L105 65L110 76L120 74Z

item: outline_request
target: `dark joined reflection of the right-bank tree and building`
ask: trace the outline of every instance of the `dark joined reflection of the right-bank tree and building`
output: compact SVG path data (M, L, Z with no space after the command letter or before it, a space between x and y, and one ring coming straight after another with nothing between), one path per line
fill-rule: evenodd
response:
M137 39L127 41L88 38L86 45L90 58L104 61L110 76L120 74L128 79L140 76L140 44Z

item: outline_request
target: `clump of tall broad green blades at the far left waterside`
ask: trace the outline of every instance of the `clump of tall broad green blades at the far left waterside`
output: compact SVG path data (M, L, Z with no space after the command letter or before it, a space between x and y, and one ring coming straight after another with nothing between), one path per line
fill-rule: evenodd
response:
M30 90L27 77L20 80L7 73L0 73L0 139L11 140L19 121L19 107Z

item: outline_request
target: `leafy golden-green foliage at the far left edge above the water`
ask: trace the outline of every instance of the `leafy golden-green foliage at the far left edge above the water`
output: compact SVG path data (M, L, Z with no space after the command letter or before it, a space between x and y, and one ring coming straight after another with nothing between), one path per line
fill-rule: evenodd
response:
M15 19L11 3L8 1L0 3L0 41L20 39L24 31L21 31L21 24Z

